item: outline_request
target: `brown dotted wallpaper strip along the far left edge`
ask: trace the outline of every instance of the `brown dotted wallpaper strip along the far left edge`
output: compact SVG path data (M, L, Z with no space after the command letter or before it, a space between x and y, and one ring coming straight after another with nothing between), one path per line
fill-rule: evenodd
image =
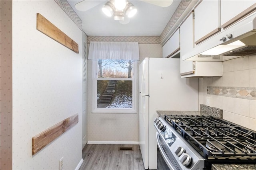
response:
M0 1L0 169L12 169L12 1Z

